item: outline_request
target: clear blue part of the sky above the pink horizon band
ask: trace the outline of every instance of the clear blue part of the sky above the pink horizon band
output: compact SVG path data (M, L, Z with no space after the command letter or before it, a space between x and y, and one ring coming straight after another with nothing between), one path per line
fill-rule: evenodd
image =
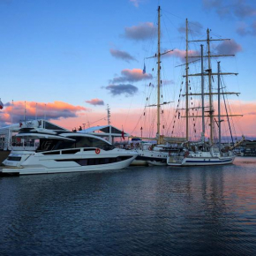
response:
M203 28L194 37L231 38L241 48L235 58L222 60L231 90L241 91L243 102L256 101L256 2L243 0L0 0L0 86L2 102L67 102L104 111L140 108L147 79L130 81L138 90L113 94L109 85L125 69L143 69L144 57L154 54L156 39L134 40L127 28L146 22L156 26L157 7L162 8L162 49L184 50L184 34L179 32L185 18ZM126 28L126 33L125 33ZM238 30L237 30L238 29ZM154 45L153 45L154 43ZM110 49L132 56L129 62ZM190 49L193 49L193 45ZM146 63L151 71L150 61ZM176 84L182 64L168 57L166 79ZM175 85L169 85L172 97ZM111 94L112 92L112 94ZM87 102L100 99L105 105ZM87 101L87 102L86 102ZM132 107L131 107L132 105Z

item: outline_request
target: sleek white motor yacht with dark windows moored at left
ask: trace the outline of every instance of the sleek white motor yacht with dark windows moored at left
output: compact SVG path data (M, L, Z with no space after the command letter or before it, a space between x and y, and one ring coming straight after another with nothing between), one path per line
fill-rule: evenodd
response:
M11 151L3 162L2 175L124 169L138 155L132 150L115 148L105 139L79 132L25 128L16 136L39 139L39 147L35 151Z

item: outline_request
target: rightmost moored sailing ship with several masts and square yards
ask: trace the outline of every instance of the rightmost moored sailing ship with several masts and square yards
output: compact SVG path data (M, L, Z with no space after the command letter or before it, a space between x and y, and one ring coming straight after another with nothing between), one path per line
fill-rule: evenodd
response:
M207 38L203 40L188 40L188 21L186 19L186 55L185 55L185 92L179 94L184 97L184 108L177 104L176 115L178 119L185 119L185 141L183 148L177 153L169 154L167 164L169 166L198 166L198 165L223 165L230 164L235 159L235 154L232 150L240 145L245 139L242 137L236 143L233 141L230 118L242 115L233 115L229 113L227 95L239 94L235 92L228 92L225 90L222 76L237 75L232 72L222 72L221 62L216 62L216 66L212 65L212 58L234 55L212 54L211 41L230 41L230 39L212 39L210 37L210 30L207 29ZM189 56L188 44L189 42L206 42L207 51L204 52L204 45L200 45L200 54L197 56ZM192 60L189 62L189 59ZM204 60L207 60L207 64ZM200 72L192 73L191 65L200 61ZM213 72L213 69L217 70ZM191 83L191 78L200 78L200 87L196 92L192 91L195 86ZM207 78L207 79L206 79ZM207 80L207 85L205 85ZM193 81L194 82L194 81ZM217 87L213 87L213 84ZM182 89L181 89L182 91ZM217 101L214 102L214 96L217 96ZM192 101L192 99L196 100ZM199 98L197 98L199 97ZM193 105L194 103L194 105ZM192 122L191 122L192 120ZM173 129L175 128L175 122ZM198 121L198 122L197 122ZM222 124L228 124L230 138L232 144L230 147L222 147ZM201 124L201 126L200 126ZM206 129L206 127L208 129ZM192 140L189 136L190 132L198 132L200 130L200 139ZM173 131L171 132L173 135ZM208 139L207 139L208 137Z

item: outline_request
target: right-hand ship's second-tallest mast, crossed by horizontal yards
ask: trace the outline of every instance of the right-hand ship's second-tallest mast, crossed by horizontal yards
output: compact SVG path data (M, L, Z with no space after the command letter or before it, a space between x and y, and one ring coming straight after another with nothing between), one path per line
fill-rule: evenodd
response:
M211 69L211 50L210 50L210 31L207 28L207 54L208 54L208 80L209 80L209 117L210 117L210 144L214 144L214 125L213 125L213 95L212 95L212 69Z

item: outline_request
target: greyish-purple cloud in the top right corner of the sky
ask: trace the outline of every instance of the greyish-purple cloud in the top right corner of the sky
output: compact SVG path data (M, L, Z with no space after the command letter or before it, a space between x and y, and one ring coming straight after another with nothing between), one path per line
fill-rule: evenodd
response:
M213 9L221 18L245 19L256 16L256 8L245 3L245 0L203 0L205 9Z

